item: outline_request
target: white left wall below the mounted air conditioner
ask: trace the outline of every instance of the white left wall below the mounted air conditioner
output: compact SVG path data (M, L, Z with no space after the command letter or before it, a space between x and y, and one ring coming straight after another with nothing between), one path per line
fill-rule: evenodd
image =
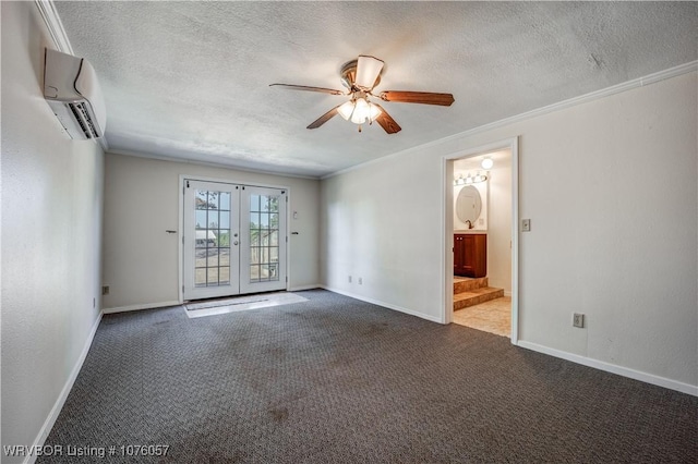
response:
M2 444L31 445L99 320L104 155L43 98L55 46L34 2L1 8Z

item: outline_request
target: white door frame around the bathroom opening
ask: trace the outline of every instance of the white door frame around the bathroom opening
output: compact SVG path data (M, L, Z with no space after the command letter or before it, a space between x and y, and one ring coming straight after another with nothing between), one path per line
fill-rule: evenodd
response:
M519 341L519 137L493 142L442 157L442 301L444 323L454 318L454 161L492 151L512 152L512 344Z

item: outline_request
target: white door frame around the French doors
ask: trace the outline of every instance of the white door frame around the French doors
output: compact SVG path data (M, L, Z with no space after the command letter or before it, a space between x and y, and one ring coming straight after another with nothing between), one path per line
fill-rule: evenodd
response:
M178 227L179 227L179 235L180 239L178 241L178 247L177 247L177 298L179 301L179 304L183 304L184 303L184 292L183 292L183 286L184 286L184 180L189 179L190 181L202 181L202 182L216 182L219 184L232 184L232 185L246 185L246 186L251 186L251 187L263 187L263 188L278 188L278 190L285 190L286 191L286 196L288 198L289 202L289 206L286 208L286 224L287 224L287 234L288 234L288 224L290 224L290 198L291 198L291 188L286 186L286 185L274 185L274 184L264 184L264 183L260 183L260 182L250 182L250 181L239 181L239 180L232 180L232 179L221 179L221 178L209 178L206 175L196 175L196 174L179 174L179 187L177 191L177 198L178 198ZM291 282L291 266L289 262L289 255L290 255L290 244L291 241L289 240L286 246L286 276L287 276L287 280L286 280L286 291L288 291L290 289L290 282Z

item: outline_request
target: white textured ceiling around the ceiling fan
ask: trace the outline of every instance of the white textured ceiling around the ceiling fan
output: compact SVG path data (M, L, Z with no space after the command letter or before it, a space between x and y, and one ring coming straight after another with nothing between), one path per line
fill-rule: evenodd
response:
M322 176L698 59L696 2L57 2L95 66L115 151ZM334 118L339 68L385 60L402 126Z

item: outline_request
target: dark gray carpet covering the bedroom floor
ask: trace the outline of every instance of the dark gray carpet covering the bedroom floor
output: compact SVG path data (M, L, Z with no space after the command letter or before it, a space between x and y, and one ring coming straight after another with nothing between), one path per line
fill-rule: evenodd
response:
M326 291L107 315L46 444L137 461L698 462L698 399ZM133 460L131 460L133 462Z

